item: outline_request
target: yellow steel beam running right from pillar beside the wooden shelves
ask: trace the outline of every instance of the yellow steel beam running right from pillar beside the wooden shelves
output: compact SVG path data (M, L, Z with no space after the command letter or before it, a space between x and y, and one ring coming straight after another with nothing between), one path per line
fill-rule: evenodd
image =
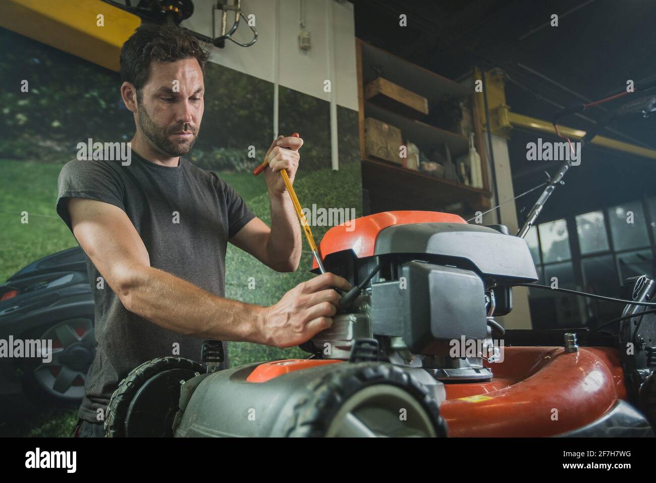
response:
M480 78L480 71L475 70L474 76ZM554 125L550 122L510 111L510 106L506 104L504 76L501 70L492 69L485 72L485 87L487 88L487 107L490 114L490 127L493 134L508 138L510 137L512 129L520 128L556 136L556 129L554 129ZM483 93L477 93L477 95L479 96L479 105L483 106ZM485 110L480 109L479 112L481 116L481 124L484 129L487 129ZM586 133L585 131L581 131L581 129L561 126L560 124L558 124L558 131L562 135L571 139L581 139ZM590 144L656 160L656 150L654 149L636 146L631 143L624 143L623 141L616 141L609 137L595 136L594 139L590 141Z

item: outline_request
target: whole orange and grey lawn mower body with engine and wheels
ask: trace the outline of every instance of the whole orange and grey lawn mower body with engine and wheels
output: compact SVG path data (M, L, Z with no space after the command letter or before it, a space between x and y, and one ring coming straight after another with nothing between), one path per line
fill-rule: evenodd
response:
M362 290L302 344L308 359L218 371L213 350L207 373L155 359L115 392L108 436L653 436L656 315L619 337L505 333L495 317L537 274L502 225L385 212L333 227L319 251ZM633 283L636 301L656 290Z

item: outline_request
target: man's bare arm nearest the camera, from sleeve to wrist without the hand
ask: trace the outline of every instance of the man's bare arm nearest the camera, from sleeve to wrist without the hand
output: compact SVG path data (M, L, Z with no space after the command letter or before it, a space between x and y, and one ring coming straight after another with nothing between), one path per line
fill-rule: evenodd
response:
M72 198L68 208L75 238L127 310L182 334L262 343L264 307L220 298L151 267L144 242L117 206Z

